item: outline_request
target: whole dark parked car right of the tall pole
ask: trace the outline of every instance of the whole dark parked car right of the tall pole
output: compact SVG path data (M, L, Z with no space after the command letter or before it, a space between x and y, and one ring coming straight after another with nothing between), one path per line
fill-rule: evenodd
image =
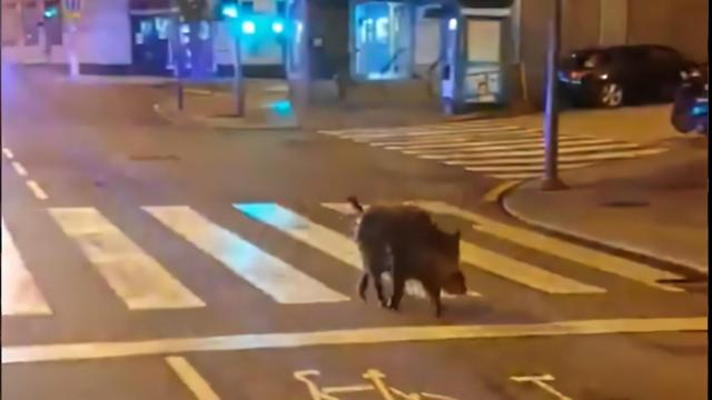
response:
M669 47L640 44L576 50L561 67L561 89L574 106L615 108L671 101L694 63Z

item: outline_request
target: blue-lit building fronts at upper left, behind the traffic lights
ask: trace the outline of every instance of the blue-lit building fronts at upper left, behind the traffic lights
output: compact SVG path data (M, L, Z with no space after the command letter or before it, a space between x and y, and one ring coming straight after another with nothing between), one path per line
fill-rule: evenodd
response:
M67 40L68 21L62 16L46 19L40 0L2 0L3 47L32 50L41 47L47 31L53 52L70 49ZM277 18L278 0L244 0L243 8L259 16ZM283 8L284 9L284 8ZM76 21L75 51L81 73L108 74L171 74L176 53L174 33L178 9L171 0L85 0L81 18ZM41 27L44 24L44 27ZM219 74L231 73L235 58L234 27L229 21L209 21L179 27L184 43L199 41L201 60ZM260 27L257 27L259 30ZM281 39L260 34L243 41L241 56L248 76L284 76ZM66 57L55 58L66 61Z

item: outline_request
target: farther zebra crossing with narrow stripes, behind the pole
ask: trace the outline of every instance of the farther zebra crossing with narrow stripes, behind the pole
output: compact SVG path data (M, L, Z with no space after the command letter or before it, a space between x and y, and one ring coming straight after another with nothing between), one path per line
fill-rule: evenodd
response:
M507 121L462 121L417 127L320 130L319 133L424 160L463 168L496 179L541 177L544 170L542 130ZM561 134L558 168L572 170L611 160L654 156L665 148L584 134Z

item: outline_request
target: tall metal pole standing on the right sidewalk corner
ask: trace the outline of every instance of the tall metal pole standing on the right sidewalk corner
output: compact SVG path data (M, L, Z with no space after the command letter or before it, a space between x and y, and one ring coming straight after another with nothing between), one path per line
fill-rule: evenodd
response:
M554 1L554 16L548 31L546 69L546 111L544 114L544 181L543 190L565 189L558 179L558 97L556 96L558 57L561 48L562 0Z

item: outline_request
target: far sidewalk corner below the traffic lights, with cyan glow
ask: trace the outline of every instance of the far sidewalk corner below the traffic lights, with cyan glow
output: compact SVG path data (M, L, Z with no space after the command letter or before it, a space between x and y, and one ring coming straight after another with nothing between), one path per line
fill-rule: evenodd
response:
M187 86L184 89L182 110L178 110L176 92L167 92L166 98L155 104L155 109L164 118L179 124L236 130L298 128L283 81L248 80L245 98L247 107L243 118L235 114L235 98L229 83Z

